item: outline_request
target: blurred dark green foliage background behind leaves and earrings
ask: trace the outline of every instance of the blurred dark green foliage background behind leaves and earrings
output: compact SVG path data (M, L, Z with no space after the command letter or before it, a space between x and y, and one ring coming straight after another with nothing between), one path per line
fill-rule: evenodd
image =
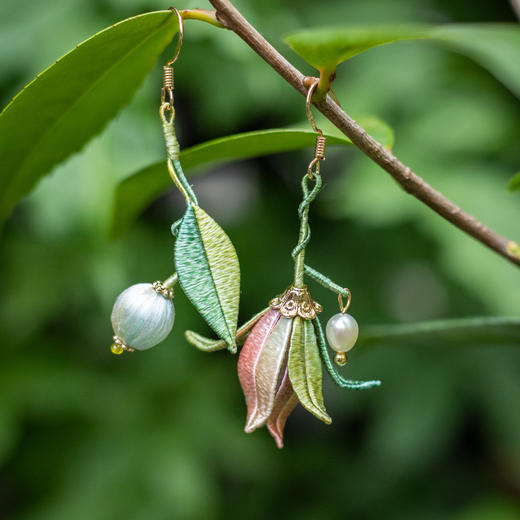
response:
M180 2L178 7L206 7ZM298 28L374 22L515 22L506 1L263 0L237 6L282 43ZM94 32L167 5L145 0L2 0L0 104ZM171 49L169 49L170 51ZM122 85L124 88L124 85ZM172 335L112 356L109 315L125 287L172 271L166 193L107 238L118 180L164 156L160 64L107 130L20 204L0 245L0 517L520 518L520 349L478 339L380 341L345 373L383 386L346 393L324 376L334 422L301 408L286 447L243 433L236 358L183 338L208 332L178 291ZM373 49L341 66L347 112L395 131L394 150L499 232L520 238L520 102L469 59L427 42ZM305 119L304 103L237 37L187 22L176 68L182 146ZM30 124L30 121L27 122ZM292 274L299 180L311 150L194 179L241 260L241 320ZM518 315L518 270L407 196L356 149L330 149L312 207L309 263L348 285L361 327ZM313 288L336 312L333 295Z

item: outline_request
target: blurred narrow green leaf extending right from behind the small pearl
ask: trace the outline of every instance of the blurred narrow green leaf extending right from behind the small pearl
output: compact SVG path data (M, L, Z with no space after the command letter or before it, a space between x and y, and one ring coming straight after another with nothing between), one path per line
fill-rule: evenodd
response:
M471 317L363 327L360 345L428 340L435 345L496 344L520 340L520 318Z

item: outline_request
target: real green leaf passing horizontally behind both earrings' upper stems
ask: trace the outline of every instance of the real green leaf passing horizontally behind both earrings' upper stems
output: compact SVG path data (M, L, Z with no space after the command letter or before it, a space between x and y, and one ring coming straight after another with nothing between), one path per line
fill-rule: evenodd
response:
M359 118L359 123L384 146L393 144L393 132L376 117ZM329 145L351 145L337 128L323 125ZM201 171L225 161L300 150L314 146L315 134L310 129L274 129L234 134L187 148L180 161L186 173ZM302 166L303 167L303 166ZM135 218L171 185L166 162L152 164L124 179L116 188L111 235L121 235Z

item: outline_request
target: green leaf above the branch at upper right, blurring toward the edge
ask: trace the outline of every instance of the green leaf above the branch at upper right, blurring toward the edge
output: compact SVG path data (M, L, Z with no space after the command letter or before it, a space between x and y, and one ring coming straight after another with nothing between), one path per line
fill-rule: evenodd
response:
M350 25L299 31L288 35L285 41L317 69L334 70L367 49L410 39L428 39L469 56L520 97L517 24Z

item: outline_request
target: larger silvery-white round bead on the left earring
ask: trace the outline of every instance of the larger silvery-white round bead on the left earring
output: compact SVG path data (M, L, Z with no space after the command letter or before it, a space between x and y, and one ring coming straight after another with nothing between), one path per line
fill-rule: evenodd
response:
M112 309L112 327L128 347L146 350L160 343L172 330L173 302L158 294L151 283L124 290Z

